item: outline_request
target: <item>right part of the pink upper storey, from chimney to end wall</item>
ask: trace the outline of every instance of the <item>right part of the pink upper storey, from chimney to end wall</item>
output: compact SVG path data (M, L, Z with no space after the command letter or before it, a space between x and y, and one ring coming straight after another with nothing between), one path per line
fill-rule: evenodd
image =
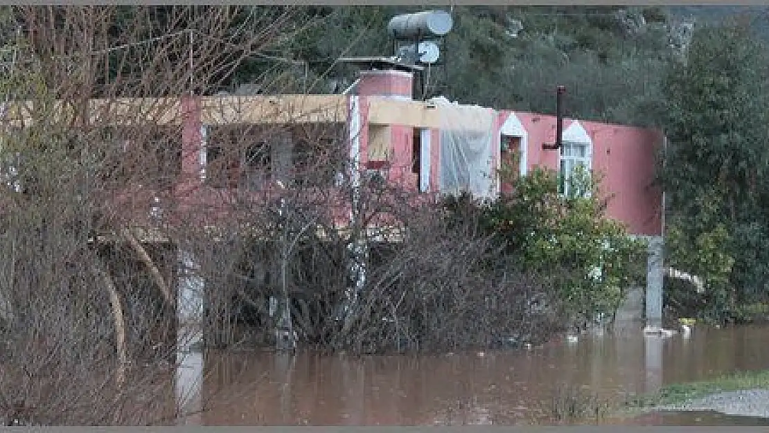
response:
M535 167L558 170L567 190L568 176L575 166L601 173L602 189L612 196L609 218L624 222L633 235L662 233L662 192L653 185L657 152L664 142L658 131L564 119L561 149L546 150L543 145L556 138L554 116L411 101L411 74L402 71L362 72L358 93L361 95L349 97L350 124L355 125L351 128L351 148L368 169L389 168L392 182L403 182L421 192L446 191L446 179L452 176L452 167L457 167L468 172L468 179L488 179L486 189L494 195L509 188L501 185L495 173L500 162L514 151L520 155L520 175ZM445 114L451 110L457 113ZM463 122L474 125L457 125ZM460 135L447 134L447 128L457 128ZM463 129L484 136L463 144ZM441 155L478 145L488 148L482 149L482 158L464 167L457 161L447 163L450 155ZM479 152L473 148L468 153Z

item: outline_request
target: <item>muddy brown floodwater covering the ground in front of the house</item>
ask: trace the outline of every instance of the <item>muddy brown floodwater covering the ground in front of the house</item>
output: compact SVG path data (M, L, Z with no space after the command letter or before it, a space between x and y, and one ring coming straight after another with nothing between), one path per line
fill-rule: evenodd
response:
M769 327L696 328L688 338L638 330L431 356L206 351L191 359L180 383L201 365L205 374L191 387L187 409L201 412L181 421L188 425L518 425L553 422L566 395L619 402L666 384L767 369ZM697 425L697 416L720 415L653 414L638 424Z

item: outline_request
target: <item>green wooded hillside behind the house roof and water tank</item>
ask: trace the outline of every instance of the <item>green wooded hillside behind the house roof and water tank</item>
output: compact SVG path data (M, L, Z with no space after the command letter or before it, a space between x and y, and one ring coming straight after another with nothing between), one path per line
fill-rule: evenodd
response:
M352 77L350 68L335 65L336 58L393 54L388 19L422 9L315 8L315 25L297 39L293 56L308 60L316 76ZM552 114L554 88L566 85L571 116L647 124L647 112L660 99L668 29L658 9L631 8L626 15L631 18L622 18L618 7L456 7L454 29L441 50L444 65L432 68L428 92ZM646 24L628 25L647 15Z

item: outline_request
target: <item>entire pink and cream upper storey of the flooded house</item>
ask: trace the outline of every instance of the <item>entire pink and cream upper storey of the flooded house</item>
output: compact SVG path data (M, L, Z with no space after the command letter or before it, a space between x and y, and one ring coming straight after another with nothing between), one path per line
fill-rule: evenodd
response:
M331 131L328 139L348 142L358 175L378 174L426 196L458 189L497 195L509 188L498 181L498 168L512 151L520 155L521 175L538 166L560 170L567 190L571 170L584 165L604 175L604 192L613 196L610 218L623 221L633 235L661 235L662 193L652 185L657 151L664 142L659 132L566 119L561 149L545 150L543 144L555 141L552 116L458 105L444 98L415 101L412 88L411 72L380 68L361 72L352 92L343 95L94 100L94 122L117 129L160 125L165 131L163 158L171 158L162 186L126 181L105 199L118 203L112 206L115 218L135 225L148 224L148 211L168 198L175 203L174 209L165 209L168 218L177 212L178 218L191 215L215 225L235 195L275 197L283 188L276 185L295 184L301 176L297 155L305 152L306 138ZM151 109L127 119L126 110L133 105ZM245 137L241 144L248 149L226 148L232 133ZM124 140L124 152L148 152L131 151L130 143ZM246 161L244 154L252 151L261 152L258 161ZM148 154L146 162L158 163L153 158ZM326 194L335 188L329 179L309 185ZM335 213L342 225L347 206L340 196Z

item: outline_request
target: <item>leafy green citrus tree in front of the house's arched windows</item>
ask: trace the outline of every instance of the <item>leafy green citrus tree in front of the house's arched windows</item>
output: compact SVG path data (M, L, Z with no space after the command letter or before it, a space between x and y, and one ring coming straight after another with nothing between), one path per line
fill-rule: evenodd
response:
M510 194L475 206L483 215L481 233L494 235L522 271L551 281L558 308L581 329L613 315L625 290L642 280L645 249L621 223L605 218L600 182L588 172L571 180L574 194L561 195L558 173L537 168L515 181ZM463 218L468 202L468 196L446 198L454 218Z

